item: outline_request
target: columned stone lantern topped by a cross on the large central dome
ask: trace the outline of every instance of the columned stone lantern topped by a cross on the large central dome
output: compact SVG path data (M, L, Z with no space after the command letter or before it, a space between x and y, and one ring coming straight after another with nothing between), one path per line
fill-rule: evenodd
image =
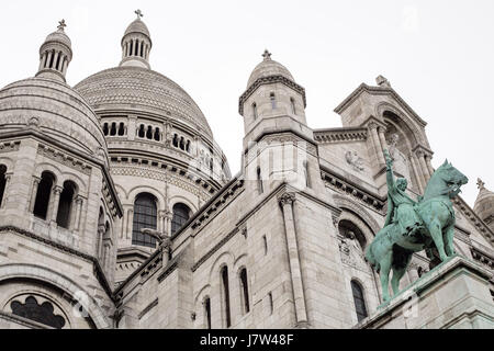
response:
M149 30L141 20L143 12L136 10L137 19L132 22L125 30L122 37L122 61L120 66L134 66L148 68L149 52L153 47Z

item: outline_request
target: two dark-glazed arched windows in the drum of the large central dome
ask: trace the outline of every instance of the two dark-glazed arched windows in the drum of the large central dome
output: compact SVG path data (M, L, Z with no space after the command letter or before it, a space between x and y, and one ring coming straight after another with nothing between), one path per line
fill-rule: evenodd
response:
M158 227L157 200L153 194L141 193L134 201L134 218L132 222L132 244L146 247L156 247L156 239L141 230L144 228L157 229ZM176 234L191 215L190 208L177 203L172 207L171 235Z

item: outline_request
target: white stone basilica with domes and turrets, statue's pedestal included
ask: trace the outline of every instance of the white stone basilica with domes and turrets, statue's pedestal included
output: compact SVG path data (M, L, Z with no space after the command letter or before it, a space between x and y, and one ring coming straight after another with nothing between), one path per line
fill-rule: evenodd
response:
M232 177L200 107L151 70L136 13L117 67L68 86L60 21L35 77L0 90L0 328L494 325L494 193L480 180L473 210L453 200L462 258L415 254L402 280L427 306L378 309L363 250L385 218L382 149L414 199L434 172L426 122L385 78L336 107L343 127L313 129L304 88L266 50L239 98Z

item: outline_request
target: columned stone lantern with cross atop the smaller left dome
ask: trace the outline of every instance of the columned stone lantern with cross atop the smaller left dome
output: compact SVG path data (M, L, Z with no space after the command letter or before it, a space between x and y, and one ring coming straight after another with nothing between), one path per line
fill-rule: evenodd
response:
M40 68L36 77L65 82L67 67L72 59L70 38L65 34L65 20L58 22L57 31L49 34L40 47Z

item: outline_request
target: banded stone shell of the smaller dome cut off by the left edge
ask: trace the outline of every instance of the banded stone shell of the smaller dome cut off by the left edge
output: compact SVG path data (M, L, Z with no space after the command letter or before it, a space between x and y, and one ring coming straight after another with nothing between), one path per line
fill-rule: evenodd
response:
M35 128L85 154L108 152L98 117L69 86L45 78L29 78L0 90L2 132Z

